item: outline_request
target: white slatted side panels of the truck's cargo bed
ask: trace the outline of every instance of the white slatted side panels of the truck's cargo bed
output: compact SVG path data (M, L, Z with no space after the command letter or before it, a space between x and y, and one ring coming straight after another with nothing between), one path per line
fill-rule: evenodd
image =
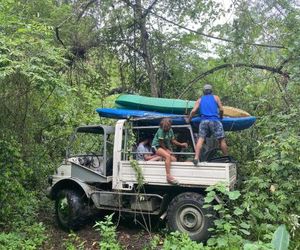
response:
M166 170L162 161L140 161L144 184L170 185L166 181ZM134 169L129 161L121 161L114 174L113 187L131 190L137 184ZM200 162L194 166L192 162L172 162L171 174L179 181L180 186L208 187L218 182L227 183L231 188L236 181L236 165L234 163ZM118 179L118 181L116 181Z

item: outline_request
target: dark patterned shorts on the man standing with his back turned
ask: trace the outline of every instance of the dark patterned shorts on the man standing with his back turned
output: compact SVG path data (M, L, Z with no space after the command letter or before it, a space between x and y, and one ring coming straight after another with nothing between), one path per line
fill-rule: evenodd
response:
M217 139L225 138L223 125L220 121L204 120L199 125L199 137L205 138L213 134Z

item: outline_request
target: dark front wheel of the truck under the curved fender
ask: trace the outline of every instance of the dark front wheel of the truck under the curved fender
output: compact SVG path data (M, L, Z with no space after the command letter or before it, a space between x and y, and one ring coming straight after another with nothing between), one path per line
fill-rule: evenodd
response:
M76 230L83 224L85 216L84 196L75 190L63 189L55 200L55 213L58 224L64 230Z

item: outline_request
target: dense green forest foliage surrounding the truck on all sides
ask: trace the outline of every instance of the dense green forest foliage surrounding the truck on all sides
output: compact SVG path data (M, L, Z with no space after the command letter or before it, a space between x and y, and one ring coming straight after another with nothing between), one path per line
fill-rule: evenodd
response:
M290 248L299 249L297 1L239 0L226 9L212 0L145 0L144 16L132 3L0 3L0 249L43 244L38 213L47 206L41 199L47 175L64 157L73 128L99 122L96 107L112 106L122 91L155 94L155 82L159 96L196 99L206 81L224 104L258 121L248 131L228 133L230 153L240 163L239 192L208 190L207 205L223 216L207 246L197 247L266 249L284 224ZM210 204L213 192L224 203ZM101 235L114 240L107 223L98 224ZM65 247L73 249L72 242L83 249L75 234ZM175 233L163 247L197 249L194 244Z

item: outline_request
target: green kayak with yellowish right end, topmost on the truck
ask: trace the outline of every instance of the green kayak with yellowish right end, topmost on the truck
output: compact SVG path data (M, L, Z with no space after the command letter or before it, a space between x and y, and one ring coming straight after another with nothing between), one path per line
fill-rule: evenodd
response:
M189 114L195 105L195 101L157 98L140 95L122 94L116 101L118 109L133 109L154 111L168 114ZM224 116L229 117L247 117L250 114L242 109L223 106Z

